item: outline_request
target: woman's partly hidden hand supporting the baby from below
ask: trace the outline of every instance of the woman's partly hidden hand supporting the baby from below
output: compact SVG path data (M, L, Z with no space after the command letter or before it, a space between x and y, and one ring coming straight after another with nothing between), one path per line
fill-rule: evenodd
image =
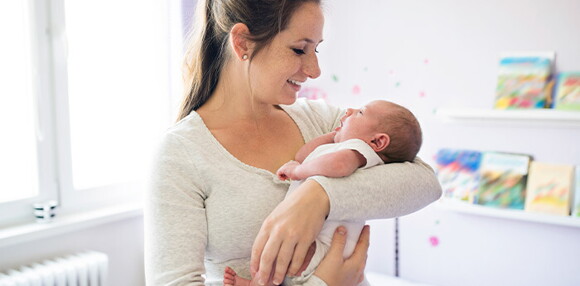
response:
M346 244L346 229L338 227L334 232L330 250L314 272L329 286L358 285L364 279L364 270L369 249L370 227L365 225L352 255L342 258Z

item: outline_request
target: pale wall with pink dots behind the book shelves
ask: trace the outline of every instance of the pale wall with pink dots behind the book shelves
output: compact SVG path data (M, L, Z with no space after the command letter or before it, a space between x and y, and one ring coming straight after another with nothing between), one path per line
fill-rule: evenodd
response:
M409 107L424 132L420 156L431 163L439 148L451 147L580 165L578 127L450 124L433 114L445 107L491 108L504 51L555 51L559 71L580 71L580 1L327 0L325 6L325 41L318 48L323 73L310 86L331 103L359 106L383 98ZM580 285L574 269L580 228L435 206L400 225L403 278L441 286Z

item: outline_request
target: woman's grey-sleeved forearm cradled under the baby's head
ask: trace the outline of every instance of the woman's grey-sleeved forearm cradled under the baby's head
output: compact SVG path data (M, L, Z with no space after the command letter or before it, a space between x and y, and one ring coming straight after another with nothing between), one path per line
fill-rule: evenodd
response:
M420 158L355 172L344 178L311 177L326 191L328 219L393 218L415 212L441 196L435 173Z

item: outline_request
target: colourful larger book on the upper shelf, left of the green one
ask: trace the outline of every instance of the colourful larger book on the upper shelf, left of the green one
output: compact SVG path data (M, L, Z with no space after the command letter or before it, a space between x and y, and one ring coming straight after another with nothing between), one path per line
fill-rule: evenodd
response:
M502 55L494 108L544 108L554 58L552 52Z

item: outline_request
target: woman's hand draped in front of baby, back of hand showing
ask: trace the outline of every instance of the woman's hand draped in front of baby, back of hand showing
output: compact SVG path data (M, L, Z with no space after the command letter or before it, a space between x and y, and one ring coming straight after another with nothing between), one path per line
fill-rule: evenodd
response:
M252 247L252 278L265 285L275 272L272 280L279 285L287 272L295 275L329 211L324 189L314 180L302 183L262 224Z

